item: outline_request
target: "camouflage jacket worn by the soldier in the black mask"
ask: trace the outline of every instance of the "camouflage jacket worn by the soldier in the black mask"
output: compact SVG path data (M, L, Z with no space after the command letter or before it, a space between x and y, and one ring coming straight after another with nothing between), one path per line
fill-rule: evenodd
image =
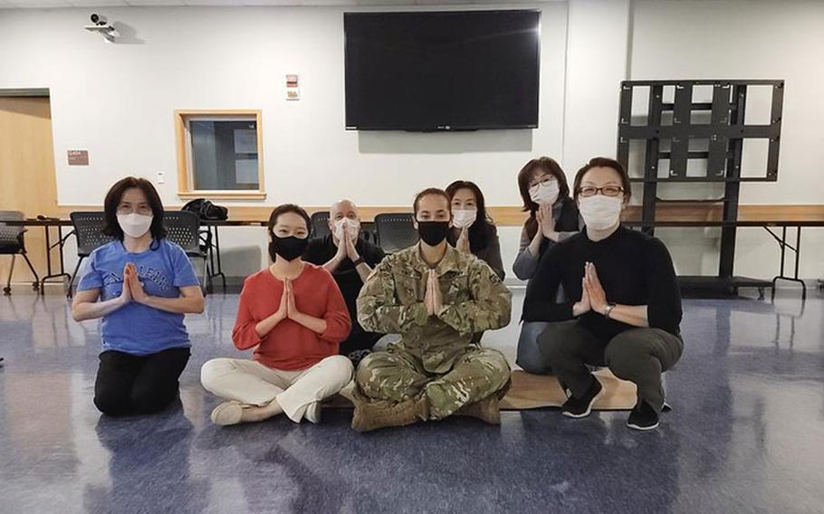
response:
M446 373L474 334L509 324L512 293L485 262L447 245L435 268L443 309L430 317L424 304L429 270L420 243L389 255L360 290L358 321L369 331L401 334L398 349L420 358L430 373Z

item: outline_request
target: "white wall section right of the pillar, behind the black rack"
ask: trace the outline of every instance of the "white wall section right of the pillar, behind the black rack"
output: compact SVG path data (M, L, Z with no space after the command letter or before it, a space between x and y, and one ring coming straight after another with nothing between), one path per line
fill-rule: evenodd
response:
M633 80L786 81L779 180L743 184L741 203L824 203L824 3L636 0L634 7ZM752 96L756 107L763 107L766 96L758 91ZM693 194L687 191L683 185L662 189L673 197ZM723 187L704 193L721 196ZM805 229L803 234L800 276L820 277L824 230ZM659 230L656 235L670 246L679 271L717 271L717 229ZM736 274L771 278L778 268L778 245L768 233L760 228L739 231Z

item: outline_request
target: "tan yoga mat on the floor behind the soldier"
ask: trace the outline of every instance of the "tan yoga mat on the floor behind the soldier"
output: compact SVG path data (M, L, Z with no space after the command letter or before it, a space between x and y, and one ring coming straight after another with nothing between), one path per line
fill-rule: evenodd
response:
M604 394L592 406L599 411L631 410L637 401L636 386L632 382L619 379L608 368L595 371ZM347 387L351 387L350 384ZM513 386L501 400L502 411L520 411L540 407L560 407L567 400L558 379L554 376L530 375L520 369L513 371ZM351 402L335 395L323 404L331 408L352 408Z

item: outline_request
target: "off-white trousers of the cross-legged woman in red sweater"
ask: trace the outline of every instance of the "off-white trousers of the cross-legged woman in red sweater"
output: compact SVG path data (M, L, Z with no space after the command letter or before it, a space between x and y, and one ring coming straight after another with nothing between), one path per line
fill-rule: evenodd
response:
M306 408L337 395L352 379L352 363L340 355L326 357L306 369L273 369L249 359L215 358L200 369L200 382L210 393L244 405L269 405L300 423Z

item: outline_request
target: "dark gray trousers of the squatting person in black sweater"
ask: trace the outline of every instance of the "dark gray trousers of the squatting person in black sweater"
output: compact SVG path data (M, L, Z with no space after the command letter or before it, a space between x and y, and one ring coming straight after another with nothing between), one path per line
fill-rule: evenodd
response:
M660 413L664 407L661 373L681 358L684 341L660 328L630 328L603 341L573 319L550 323L538 337L538 347L573 396L585 395L591 384L587 365L606 365L618 378L633 382L638 399Z

